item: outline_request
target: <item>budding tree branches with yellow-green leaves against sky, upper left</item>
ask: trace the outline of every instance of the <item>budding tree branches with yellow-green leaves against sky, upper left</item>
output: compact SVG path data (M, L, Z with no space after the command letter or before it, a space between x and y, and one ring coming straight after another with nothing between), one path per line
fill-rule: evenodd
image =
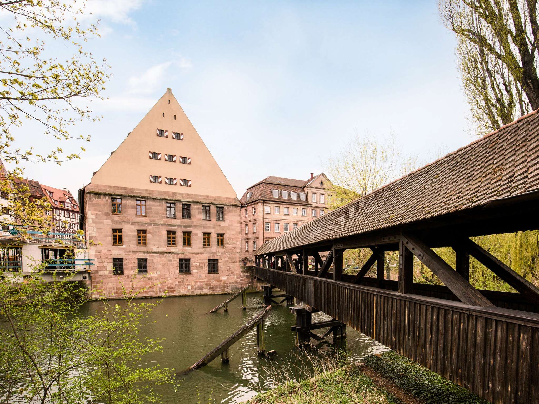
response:
M61 143L89 141L72 127L98 119L81 106L82 100L101 98L109 79L106 61L85 51L86 41L99 34L97 22L79 22L85 13L82 5L75 0L0 0L0 159L6 163L0 191L7 205L3 213L8 213L1 224L16 226L23 235L26 228L46 227L44 211L50 206L32 198L21 163L60 164L79 158L84 147L65 152ZM57 49L68 57L53 56ZM35 150L27 141L23 127L30 122L51 140L50 149ZM25 139L27 147L18 145Z

